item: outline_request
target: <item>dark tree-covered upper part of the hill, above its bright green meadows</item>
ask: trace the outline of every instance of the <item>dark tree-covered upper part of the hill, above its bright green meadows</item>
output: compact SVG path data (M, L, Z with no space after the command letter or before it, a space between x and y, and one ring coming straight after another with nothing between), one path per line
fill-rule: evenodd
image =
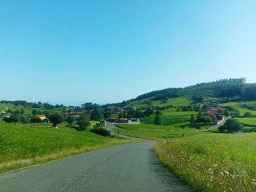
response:
M236 101L256 101L256 84L246 83L245 78L223 79L214 82L203 82L185 88L165 88L142 94L135 99L123 101L120 105L132 104L135 101L150 99L151 101L167 100L184 97L197 99L200 97L214 97Z

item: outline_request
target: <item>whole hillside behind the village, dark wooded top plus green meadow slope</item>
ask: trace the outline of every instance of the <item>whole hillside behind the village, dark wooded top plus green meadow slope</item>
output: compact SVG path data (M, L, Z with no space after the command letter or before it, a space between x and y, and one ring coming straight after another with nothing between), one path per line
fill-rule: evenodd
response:
M187 106L193 102L256 101L256 84L246 83L245 78L203 82L185 88L166 88L142 94L135 99L105 106Z

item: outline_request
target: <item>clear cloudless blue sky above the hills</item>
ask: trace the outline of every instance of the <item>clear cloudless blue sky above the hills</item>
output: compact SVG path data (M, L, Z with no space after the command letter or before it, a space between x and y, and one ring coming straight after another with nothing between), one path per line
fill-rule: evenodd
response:
M0 100L106 104L256 82L255 10L255 0L0 0Z

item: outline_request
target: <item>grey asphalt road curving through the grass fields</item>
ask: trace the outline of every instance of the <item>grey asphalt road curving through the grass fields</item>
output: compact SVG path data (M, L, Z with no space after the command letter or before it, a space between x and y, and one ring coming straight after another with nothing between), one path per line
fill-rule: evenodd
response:
M162 166L152 144L116 145L0 174L0 191L191 191Z

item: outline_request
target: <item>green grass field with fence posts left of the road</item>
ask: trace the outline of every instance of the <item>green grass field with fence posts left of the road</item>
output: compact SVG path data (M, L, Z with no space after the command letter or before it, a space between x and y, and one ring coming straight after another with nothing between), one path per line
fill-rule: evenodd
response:
M66 126L67 123L61 123L59 128L53 129L50 124L23 125L0 120L0 172L135 142L128 139L118 141L90 131L74 131Z

